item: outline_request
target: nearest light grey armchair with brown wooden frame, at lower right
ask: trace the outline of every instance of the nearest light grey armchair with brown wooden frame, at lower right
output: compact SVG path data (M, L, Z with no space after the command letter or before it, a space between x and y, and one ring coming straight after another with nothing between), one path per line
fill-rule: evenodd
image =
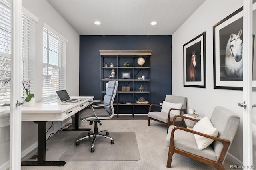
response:
M181 115L176 115L174 117L173 125L169 127L166 137L166 146L169 146L167 167L171 168L172 156L174 153L177 153L214 166L218 170L225 170L223 163L230 148L230 144L236 134L240 117L234 115L224 107L215 107L210 118L210 123L212 123L213 127L218 130L217 137L195 130L174 126L175 119L178 117L197 122L199 121L198 119L192 119ZM206 128L204 128L204 130L205 129ZM208 143L210 145L205 146L206 148L199 148L198 136L196 136L196 139L194 134L199 135L200 139L202 139L202 136L206 137L204 140L210 138L213 142L211 144Z

